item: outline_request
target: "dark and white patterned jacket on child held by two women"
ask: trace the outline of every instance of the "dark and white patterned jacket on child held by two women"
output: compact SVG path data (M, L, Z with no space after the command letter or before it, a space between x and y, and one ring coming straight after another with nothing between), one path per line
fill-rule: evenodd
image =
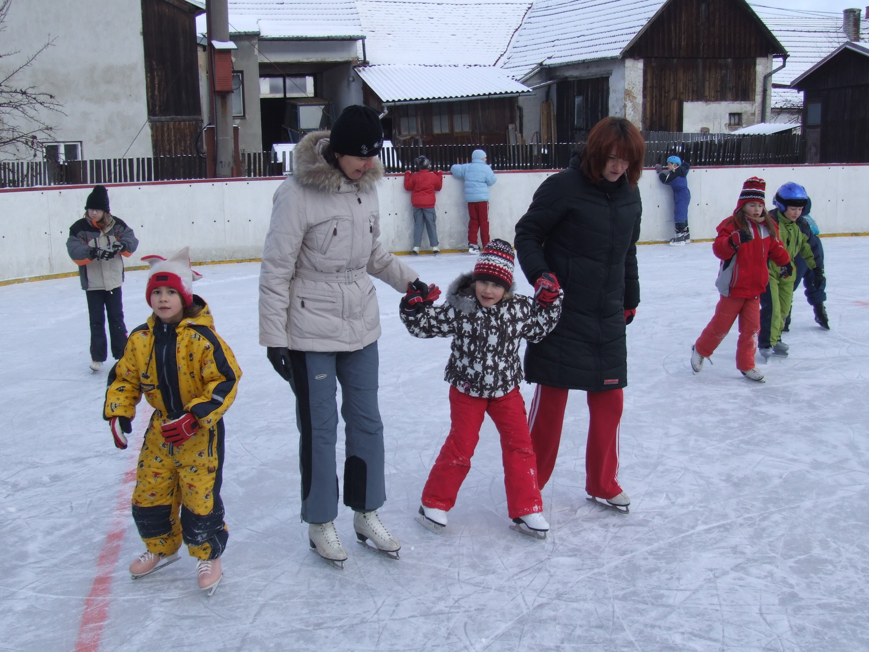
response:
M546 309L522 295L505 295L483 308L471 277L463 274L450 283L445 303L429 304L416 315L399 314L412 336L453 337L444 380L468 396L497 398L522 382L520 341L540 342L555 328L563 294Z

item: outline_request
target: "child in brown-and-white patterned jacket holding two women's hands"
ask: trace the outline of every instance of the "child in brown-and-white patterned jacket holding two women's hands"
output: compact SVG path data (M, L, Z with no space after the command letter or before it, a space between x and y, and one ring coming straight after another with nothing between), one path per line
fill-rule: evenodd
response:
M519 392L522 339L539 342L561 316L562 292L554 277L542 279L534 298L514 294L514 253L510 243L493 240L483 248L473 274L450 284L447 301L434 300L408 286L401 299L401 321L415 337L453 338L444 379L450 383L450 430L422 490L417 518L440 533L468 476L471 456L488 415L501 435L507 512L522 534L546 538L549 524L537 484L537 461L528 432L525 402ZM546 275L548 276L548 275Z

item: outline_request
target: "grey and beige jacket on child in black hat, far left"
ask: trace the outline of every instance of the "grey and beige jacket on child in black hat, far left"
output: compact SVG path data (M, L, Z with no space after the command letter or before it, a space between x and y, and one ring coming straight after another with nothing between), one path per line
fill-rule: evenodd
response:
M123 249L109 260L90 257L91 248L111 250L114 243L123 244ZM83 217L70 227L70 237L66 241L67 253L78 265L82 289L120 288L123 283L123 259L131 256L138 246L139 241L133 230L115 216L103 229Z

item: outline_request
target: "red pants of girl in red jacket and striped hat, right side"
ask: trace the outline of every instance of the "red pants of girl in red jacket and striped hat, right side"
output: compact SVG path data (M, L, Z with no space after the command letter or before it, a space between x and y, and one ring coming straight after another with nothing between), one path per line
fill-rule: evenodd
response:
M736 317L740 318L740 339L736 341L736 369L754 369L754 354L758 349L760 332L760 297L744 299L740 296L721 296L715 306L712 321L700 333L694 349L703 357L709 357L730 332Z

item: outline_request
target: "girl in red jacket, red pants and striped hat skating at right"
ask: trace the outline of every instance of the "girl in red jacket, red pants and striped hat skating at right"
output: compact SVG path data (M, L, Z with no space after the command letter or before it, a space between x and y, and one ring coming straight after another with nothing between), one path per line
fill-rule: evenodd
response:
M756 176L742 184L740 201L733 216L718 225L712 245L721 259L715 286L721 297L715 315L691 348L691 368L696 374L703 361L712 356L736 317L740 318L740 339L736 343L736 368L746 378L765 383L754 365L760 331L760 294L769 283L768 261L786 265L791 258L779 240L779 227L766 212L766 182Z

